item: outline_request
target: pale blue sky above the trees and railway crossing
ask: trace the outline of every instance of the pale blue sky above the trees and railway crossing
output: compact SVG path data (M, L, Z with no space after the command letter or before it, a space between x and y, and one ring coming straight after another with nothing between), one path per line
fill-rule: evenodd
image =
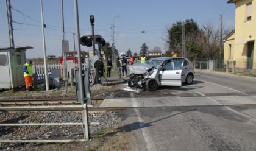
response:
M11 0L12 7L26 15L41 21L40 0ZM60 0L44 0L44 23L51 29L46 29L46 52L50 55L61 54L62 33ZM74 5L73 0L64 0L66 39L69 40L69 49L73 50ZM79 0L80 35L90 34L89 16L96 18L96 34L102 35L106 41L111 41L111 24L115 19L115 41L119 52L131 49L139 52L140 46L146 43L149 49L159 46L166 49L166 28L177 20L193 18L199 26L214 24L219 27L219 13L224 12L224 27L233 28L235 5L227 4L226 0ZM15 46L32 46L27 51L27 58L43 57L40 23L24 18L12 10L13 21L32 24L27 26L13 24ZM55 30L53 30L55 29ZM141 30L146 33L141 33ZM7 16L5 0L0 0L0 47L9 47ZM87 50L82 46L82 50Z

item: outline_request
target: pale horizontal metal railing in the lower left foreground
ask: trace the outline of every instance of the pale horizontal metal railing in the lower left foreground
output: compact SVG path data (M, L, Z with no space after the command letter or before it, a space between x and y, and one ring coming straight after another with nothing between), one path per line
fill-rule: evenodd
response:
M87 104L84 105L63 105L63 106L23 106L23 107L0 107L0 111L82 111L81 122L68 123L4 123L0 127L17 127L17 126L59 126L59 125L82 125L83 139L42 139L42 140L0 140L0 143L29 143L29 142L84 142L89 140Z

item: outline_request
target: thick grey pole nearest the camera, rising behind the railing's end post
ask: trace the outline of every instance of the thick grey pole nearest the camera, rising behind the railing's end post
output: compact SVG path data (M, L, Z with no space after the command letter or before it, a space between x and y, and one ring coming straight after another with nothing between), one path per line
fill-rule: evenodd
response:
M78 4L77 0L74 0L74 14L75 14L75 24L76 24L76 47L77 47L77 60L78 60L78 88L80 90L80 99L78 100L84 104L84 82L82 80L82 60L81 60L81 47L80 47L80 29L79 29L79 15L78 15Z

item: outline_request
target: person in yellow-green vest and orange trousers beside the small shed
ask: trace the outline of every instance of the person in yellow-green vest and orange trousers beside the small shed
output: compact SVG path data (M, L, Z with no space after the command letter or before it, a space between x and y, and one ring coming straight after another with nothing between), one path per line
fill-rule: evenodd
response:
M33 73L32 73L32 61L29 60L23 65L24 79L26 82L26 91L32 90Z

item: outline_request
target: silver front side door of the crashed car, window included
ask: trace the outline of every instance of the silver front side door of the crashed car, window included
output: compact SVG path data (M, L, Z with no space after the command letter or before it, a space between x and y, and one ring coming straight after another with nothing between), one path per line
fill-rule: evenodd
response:
M160 70L160 83L163 86L182 86L183 60L168 60Z

